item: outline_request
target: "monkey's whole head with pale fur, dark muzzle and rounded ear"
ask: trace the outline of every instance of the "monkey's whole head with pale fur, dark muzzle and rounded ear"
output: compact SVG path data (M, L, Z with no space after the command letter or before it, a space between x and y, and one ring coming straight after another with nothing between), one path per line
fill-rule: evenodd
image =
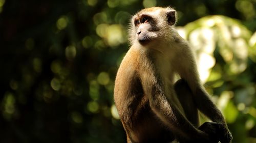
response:
M136 13L130 23L130 42L146 46L170 39L176 22L176 11L173 8L153 7Z

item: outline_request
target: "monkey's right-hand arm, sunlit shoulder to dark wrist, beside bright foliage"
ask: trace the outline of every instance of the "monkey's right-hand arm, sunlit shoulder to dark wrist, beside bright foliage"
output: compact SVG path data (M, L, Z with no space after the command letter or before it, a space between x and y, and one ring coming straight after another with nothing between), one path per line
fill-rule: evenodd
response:
M223 125L225 130L224 138L226 138L225 142L229 142L232 139L231 133L228 130L221 111L210 100L208 93L202 86L194 55L188 46L184 47L183 55L184 56L178 59L179 62L176 61L177 63L180 63L179 68L177 69L181 78L187 81L189 88L193 92L193 98L195 99L194 101L198 109L213 122L221 123Z

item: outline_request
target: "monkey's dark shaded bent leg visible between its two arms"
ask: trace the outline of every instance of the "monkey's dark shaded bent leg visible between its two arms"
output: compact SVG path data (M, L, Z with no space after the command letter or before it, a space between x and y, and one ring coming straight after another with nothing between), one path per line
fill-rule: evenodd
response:
M198 127L199 113L187 82L184 79L180 79L175 83L174 88L187 120Z

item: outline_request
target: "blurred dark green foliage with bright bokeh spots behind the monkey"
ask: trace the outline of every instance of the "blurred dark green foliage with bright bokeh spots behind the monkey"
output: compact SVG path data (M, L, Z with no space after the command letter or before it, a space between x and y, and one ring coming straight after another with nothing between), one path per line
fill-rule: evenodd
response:
M256 142L255 2L0 0L0 142L125 142L115 74L131 15L152 6L176 8L233 141Z

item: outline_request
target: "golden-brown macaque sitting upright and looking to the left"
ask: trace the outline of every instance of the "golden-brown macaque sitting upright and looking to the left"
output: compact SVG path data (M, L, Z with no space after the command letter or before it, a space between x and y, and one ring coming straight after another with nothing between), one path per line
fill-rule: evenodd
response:
M173 8L153 7L131 19L131 47L114 89L127 142L231 142L199 79L194 53L176 31L176 17ZM181 79L175 82L176 74ZM200 126L198 110L212 122Z

